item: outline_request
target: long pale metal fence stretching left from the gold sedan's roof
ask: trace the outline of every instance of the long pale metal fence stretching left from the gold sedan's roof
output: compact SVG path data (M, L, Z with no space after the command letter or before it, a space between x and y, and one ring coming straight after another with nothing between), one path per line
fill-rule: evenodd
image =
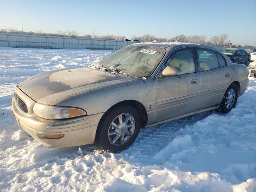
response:
M0 47L52 47L54 49L106 49L118 50L134 44L132 41L69 38L0 33Z

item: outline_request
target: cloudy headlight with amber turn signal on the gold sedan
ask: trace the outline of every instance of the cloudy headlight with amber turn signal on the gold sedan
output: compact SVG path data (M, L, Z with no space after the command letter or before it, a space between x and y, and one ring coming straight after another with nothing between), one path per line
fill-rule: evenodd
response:
M36 103L33 108L34 114L44 119L64 119L86 115L82 109L72 107L58 107Z

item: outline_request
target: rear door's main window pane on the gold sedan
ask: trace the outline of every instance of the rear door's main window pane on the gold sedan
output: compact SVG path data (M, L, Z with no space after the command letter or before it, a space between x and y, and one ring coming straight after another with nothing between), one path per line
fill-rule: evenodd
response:
M196 49L200 71L208 71L219 67L218 59L214 50Z

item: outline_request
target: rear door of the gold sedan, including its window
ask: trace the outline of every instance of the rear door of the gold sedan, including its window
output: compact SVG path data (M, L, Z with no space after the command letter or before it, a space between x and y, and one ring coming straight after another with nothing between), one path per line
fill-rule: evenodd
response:
M195 48L200 71L200 98L196 110L220 104L231 79L231 69L215 50Z

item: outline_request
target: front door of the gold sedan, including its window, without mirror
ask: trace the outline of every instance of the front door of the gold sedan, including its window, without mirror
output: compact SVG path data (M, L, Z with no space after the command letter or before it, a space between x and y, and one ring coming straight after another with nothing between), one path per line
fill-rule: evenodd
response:
M192 47L174 51L163 64L154 79L154 122L160 122L192 112L196 108L200 92L200 76L197 72ZM164 77L167 66L180 68L182 74Z

